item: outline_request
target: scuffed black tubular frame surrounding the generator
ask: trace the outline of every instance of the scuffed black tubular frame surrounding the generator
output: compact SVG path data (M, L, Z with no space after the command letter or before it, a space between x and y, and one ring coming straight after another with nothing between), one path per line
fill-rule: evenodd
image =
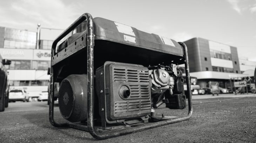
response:
M183 60L185 63L186 69L186 82L187 82L187 91L188 91L188 114L183 117L179 117L176 119L163 120L159 122L153 123L145 123L140 126L130 127L125 129L117 129L113 131L99 132L99 130L94 127L94 63L93 63L93 48L94 48L94 32L93 32L93 18L90 14L85 13L80 16L73 24L71 24L65 31L61 33L59 37L57 37L52 45L52 62L53 56L55 55L55 49L57 43L68 35L69 32L74 30L80 23L84 20L87 20L87 126L79 125L77 123L57 123L54 121L54 69L51 66L51 74L50 74L50 102L49 102L49 120L50 123L55 127L73 127L80 130L89 131L89 133L97 138L97 139L107 139L111 137L117 137L124 134L135 133L138 131L146 130L149 128L159 127L163 125L168 125L170 123L177 123L188 120L193 112L192 108L192 99L191 99L191 87L190 87L190 75L189 75L189 62L188 62L188 50L187 46L178 42L183 48Z

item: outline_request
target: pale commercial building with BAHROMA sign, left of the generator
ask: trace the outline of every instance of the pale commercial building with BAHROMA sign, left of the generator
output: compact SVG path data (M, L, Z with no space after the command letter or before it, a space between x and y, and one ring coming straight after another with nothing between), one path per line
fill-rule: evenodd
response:
M4 59L12 60L11 65L6 65L11 89L18 86L32 94L47 91L52 41L40 40L38 43L36 49L36 32L0 27L0 54Z

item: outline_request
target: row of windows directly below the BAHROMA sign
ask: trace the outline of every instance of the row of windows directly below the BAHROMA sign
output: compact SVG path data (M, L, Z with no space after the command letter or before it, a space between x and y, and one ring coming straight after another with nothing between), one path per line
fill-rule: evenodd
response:
M47 70L50 67L50 61L35 60L12 60L11 65L5 65L7 69L38 69Z

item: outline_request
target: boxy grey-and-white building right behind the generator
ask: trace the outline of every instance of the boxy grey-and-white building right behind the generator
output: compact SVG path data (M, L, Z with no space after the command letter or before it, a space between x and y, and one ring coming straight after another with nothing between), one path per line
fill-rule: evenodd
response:
M201 88L209 82L218 82L222 88L230 88L230 78L243 77L237 48L203 38L184 42L188 47L190 75L197 77Z

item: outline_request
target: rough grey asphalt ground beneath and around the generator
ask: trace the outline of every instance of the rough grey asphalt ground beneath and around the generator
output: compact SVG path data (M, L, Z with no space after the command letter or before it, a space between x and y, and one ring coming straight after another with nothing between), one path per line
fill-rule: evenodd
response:
M56 128L48 120L47 102L9 103L0 112L0 143L6 142L256 142L256 95L193 96L190 120L138 133L96 140L88 132ZM55 120L62 119L55 104ZM184 110L161 108L165 115L183 116Z

